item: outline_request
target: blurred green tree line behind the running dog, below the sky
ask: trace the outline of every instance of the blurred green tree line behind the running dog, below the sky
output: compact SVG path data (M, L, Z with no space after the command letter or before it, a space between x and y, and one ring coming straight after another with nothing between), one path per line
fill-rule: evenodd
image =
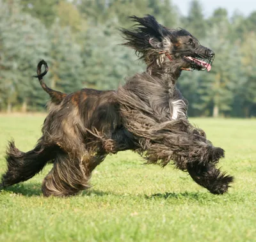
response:
M205 17L199 1L182 16L170 0L0 0L0 111L44 110L47 94L35 75L45 59L49 86L115 89L145 69L118 45L127 16L150 13L183 27L216 52L211 72L182 72L189 116L256 116L256 11L248 17L218 8Z

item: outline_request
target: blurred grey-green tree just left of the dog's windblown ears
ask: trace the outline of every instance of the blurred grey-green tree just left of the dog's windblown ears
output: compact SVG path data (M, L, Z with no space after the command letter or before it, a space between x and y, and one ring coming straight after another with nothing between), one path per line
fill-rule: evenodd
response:
M124 77L141 70L131 49L122 43L112 22L105 26L88 29L84 38L84 84L86 87L116 89Z

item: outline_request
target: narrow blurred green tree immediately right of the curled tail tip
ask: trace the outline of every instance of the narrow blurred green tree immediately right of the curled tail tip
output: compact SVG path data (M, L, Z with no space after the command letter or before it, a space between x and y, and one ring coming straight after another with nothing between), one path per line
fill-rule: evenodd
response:
M61 28L56 21L49 33L51 50L47 62L50 67L51 87L70 93L83 87L81 47L75 43L70 28Z

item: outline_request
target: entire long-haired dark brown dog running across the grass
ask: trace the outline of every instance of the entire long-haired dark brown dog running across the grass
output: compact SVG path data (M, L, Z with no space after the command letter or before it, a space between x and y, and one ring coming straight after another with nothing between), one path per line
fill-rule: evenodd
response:
M130 149L147 163L164 166L173 161L212 193L227 192L232 177L216 169L224 151L189 123L188 102L176 87L182 70L206 68L186 56L211 63L214 53L188 31L168 29L150 15L131 19L138 25L122 29L124 45L136 50L147 72L134 75L116 91L54 91L43 81L48 67L40 61L36 77L51 96L49 114L35 149L22 153L10 142L2 187L26 181L52 162L42 185L44 195L75 195L89 187L92 170L106 155Z

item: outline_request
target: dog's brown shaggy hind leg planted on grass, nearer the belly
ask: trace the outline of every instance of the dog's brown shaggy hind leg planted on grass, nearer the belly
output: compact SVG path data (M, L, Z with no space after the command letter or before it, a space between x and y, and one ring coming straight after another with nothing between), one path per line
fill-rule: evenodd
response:
M90 157L90 154L86 154L82 158L70 158L68 153L60 151L56 155L52 170L43 181L44 195L65 197L90 188L88 182L91 172L87 167Z

